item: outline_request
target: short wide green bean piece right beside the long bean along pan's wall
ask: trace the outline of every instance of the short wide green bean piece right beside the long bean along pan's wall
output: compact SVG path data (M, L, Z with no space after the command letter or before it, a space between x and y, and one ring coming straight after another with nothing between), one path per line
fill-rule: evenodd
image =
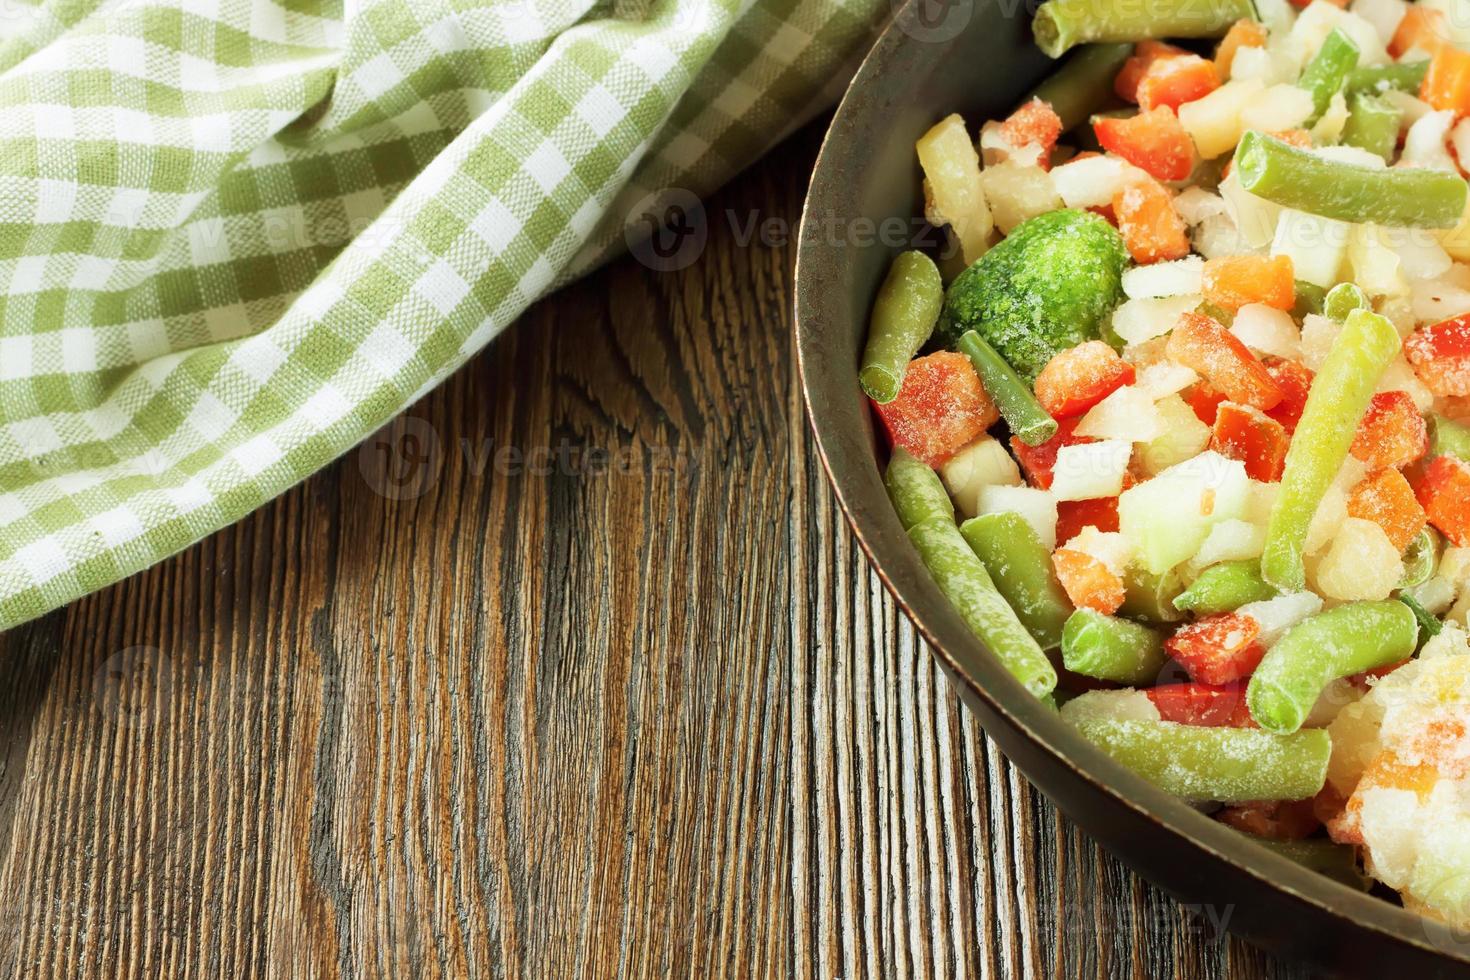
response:
M1020 514L980 514L960 525L960 535L1036 644L1057 649L1072 602L1057 582L1051 552L1036 529Z

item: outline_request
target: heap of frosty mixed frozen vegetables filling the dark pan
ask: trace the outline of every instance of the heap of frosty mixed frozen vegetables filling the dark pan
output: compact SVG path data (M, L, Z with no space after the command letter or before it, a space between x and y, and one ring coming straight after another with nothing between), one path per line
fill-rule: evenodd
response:
M1047 0L1086 47L919 141L964 267L879 295L889 491L1086 738L1470 927L1470 31L1208 6Z

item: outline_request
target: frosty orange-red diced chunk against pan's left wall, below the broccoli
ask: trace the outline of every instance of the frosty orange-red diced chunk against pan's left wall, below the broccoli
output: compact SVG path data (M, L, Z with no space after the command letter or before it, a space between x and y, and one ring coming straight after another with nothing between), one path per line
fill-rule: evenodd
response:
M939 351L908 363L898 397L873 408L894 445L939 466L1000 419L964 354Z

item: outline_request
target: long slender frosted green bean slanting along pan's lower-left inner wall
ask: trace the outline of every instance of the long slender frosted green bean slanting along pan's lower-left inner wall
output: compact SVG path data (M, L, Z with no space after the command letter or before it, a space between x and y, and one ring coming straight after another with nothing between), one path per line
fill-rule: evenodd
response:
M1057 669L995 589L989 573L948 517L908 529L925 567L960 619L1026 691L1038 698L1057 686Z

